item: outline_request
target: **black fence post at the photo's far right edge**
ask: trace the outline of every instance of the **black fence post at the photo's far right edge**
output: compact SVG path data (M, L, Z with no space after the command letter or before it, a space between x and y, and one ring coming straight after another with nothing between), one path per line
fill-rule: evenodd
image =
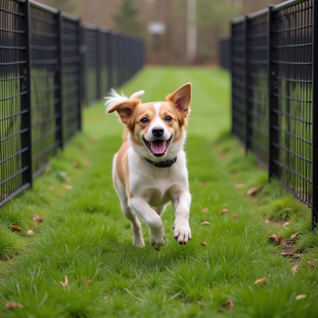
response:
M312 106L312 160L311 160L311 170L312 170L312 193L311 193L311 219L312 219L312 230L317 227L318 223L318 165L315 166L315 163L318 162L318 72L315 70L318 67L318 5L315 5L313 1L313 52L312 52L312 79L313 79L313 106ZM317 26L315 22L317 20ZM316 124L317 121L317 124ZM316 125L316 126L315 126Z

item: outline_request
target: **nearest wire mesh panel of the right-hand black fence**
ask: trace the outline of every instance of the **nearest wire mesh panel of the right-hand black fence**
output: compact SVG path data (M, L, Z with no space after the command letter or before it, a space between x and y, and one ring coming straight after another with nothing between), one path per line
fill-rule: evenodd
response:
M284 187L311 205L312 1L273 11L271 129L273 171Z

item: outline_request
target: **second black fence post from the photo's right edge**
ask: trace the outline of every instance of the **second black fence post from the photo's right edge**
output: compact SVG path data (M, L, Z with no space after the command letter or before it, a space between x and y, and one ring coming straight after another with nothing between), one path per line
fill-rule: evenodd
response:
M278 160L278 148L275 146L279 142L278 138L278 114L274 111L277 109L277 98L273 96L274 92L278 91L278 83L275 80L276 69L272 63L273 60L273 6L268 7L268 22L267 22L267 74L268 74L268 176L269 179L273 176L279 176L278 165L275 160Z

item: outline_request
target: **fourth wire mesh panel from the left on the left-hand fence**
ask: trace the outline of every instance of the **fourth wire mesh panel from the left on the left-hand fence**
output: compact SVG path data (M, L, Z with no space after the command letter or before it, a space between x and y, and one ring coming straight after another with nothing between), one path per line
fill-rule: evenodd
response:
M98 31L95 29L84 29L85 43L85 102L89 105L98 100Z

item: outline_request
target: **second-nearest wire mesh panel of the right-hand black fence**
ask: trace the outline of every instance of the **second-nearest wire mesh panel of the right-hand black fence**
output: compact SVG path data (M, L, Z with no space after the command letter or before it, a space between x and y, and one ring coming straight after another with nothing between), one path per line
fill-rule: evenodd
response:
M247 134L259 163L268 165L267 13L247 19Z

